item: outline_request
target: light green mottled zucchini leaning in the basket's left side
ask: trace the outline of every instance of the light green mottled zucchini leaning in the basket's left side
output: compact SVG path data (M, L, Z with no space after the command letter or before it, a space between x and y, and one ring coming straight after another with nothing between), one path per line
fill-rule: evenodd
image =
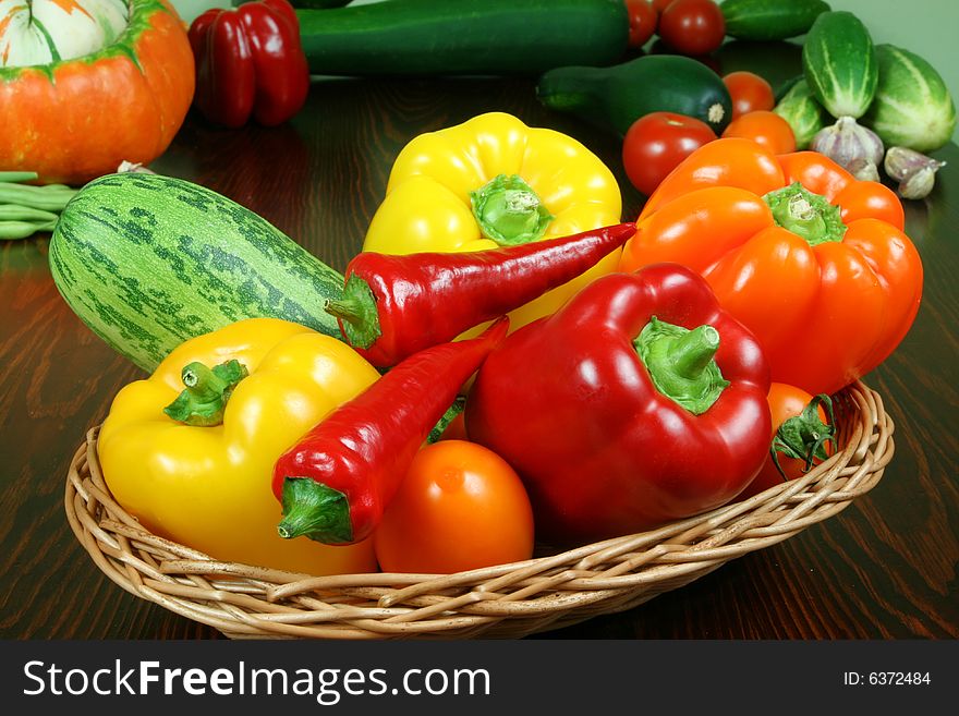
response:
M181 342L252 317L342 338L324 311L343 277L253 211L159 174L108 174L60 215L49 250L63 299L150 373Z

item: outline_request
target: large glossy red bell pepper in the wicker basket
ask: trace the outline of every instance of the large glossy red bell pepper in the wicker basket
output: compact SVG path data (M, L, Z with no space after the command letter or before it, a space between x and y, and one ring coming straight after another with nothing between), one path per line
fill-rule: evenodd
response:
M718 507L769 449L769 368L678 264L604 276L508 337L466 398L466 433L509 462L554 544Z

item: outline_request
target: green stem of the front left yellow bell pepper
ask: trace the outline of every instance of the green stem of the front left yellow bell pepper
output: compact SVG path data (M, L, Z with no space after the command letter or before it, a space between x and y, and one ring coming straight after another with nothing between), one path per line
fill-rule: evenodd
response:
M250 373L240 361L207 367L198 361L186 365L180 376L184 390L163 412L179 423L210 427L223 423L223 411L233 389Z

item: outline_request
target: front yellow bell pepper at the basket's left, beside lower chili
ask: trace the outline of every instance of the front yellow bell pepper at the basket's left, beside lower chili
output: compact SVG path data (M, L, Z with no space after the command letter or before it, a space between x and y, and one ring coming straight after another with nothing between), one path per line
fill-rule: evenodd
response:
M150 532L215 559L317 575L375 571L371 541L280 537L271 481L280 454L378 377L345 343L298 324L231 324L120 390L97 445L104 478Z

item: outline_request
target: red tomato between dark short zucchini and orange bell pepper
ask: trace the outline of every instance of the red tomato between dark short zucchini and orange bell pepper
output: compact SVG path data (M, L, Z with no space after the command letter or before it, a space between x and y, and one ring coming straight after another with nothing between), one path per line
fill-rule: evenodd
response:
M633 186L646 196L679 162L716 138L708 124L675 112L638 119L622 142L622 163Z

